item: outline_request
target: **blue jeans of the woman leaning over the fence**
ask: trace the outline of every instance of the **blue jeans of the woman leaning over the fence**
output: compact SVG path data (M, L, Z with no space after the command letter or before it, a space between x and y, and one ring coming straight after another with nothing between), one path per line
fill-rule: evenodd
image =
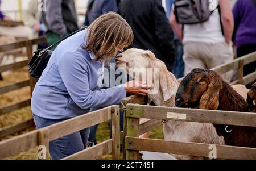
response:
M50 126L55 123L59 123L63 120L51 120L46 118L41 118L36 116L35 114L32 115L36 128L43 128ZM86 128L84 130L74 132L67 136L60 137L59 139L53 140L49 142L49 153L51 155L51 159L59 160L64 157L70 156L73 153L82 151L86 148L86 144L88 141L90 128Z

